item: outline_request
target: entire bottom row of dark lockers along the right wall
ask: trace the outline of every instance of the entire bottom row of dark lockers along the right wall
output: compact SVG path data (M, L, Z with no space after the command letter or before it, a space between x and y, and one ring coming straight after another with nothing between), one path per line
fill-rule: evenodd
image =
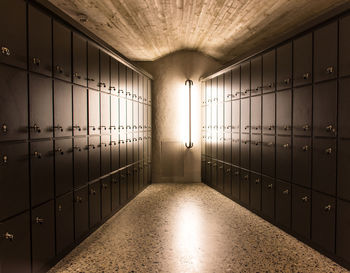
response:
M205 157L202 181L350 263L349 202Z

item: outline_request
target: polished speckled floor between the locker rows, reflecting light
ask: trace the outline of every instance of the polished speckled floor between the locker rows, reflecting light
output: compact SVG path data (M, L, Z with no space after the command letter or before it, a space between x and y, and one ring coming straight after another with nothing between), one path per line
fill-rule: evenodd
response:
M204 184L154 184L53 272L348 272Z

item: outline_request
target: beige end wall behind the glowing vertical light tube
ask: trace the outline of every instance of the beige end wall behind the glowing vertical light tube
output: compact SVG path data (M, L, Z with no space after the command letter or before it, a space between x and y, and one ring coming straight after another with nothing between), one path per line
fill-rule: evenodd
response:
M205 73L221 65L196 51L179 51L154 62L138 62L154 77L152 88L152 182L200 181L200 82ZM191 79L194 147L186 149L188 120L185 101ZM187 96L186 96L187 94ZM181 171L183 167L183 172Z

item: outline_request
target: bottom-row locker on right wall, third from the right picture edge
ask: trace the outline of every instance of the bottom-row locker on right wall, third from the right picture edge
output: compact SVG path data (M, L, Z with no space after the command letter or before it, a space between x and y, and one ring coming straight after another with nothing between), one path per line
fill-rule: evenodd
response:
M311 190L293 185L292 191L292 230L310 239Z

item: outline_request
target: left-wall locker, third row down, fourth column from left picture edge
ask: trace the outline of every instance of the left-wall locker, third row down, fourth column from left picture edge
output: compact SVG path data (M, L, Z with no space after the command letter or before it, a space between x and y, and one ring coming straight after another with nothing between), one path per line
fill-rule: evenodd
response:
M74 187L80 187L88 182L88 147L87 139L74 138L73 140L74 154Z

